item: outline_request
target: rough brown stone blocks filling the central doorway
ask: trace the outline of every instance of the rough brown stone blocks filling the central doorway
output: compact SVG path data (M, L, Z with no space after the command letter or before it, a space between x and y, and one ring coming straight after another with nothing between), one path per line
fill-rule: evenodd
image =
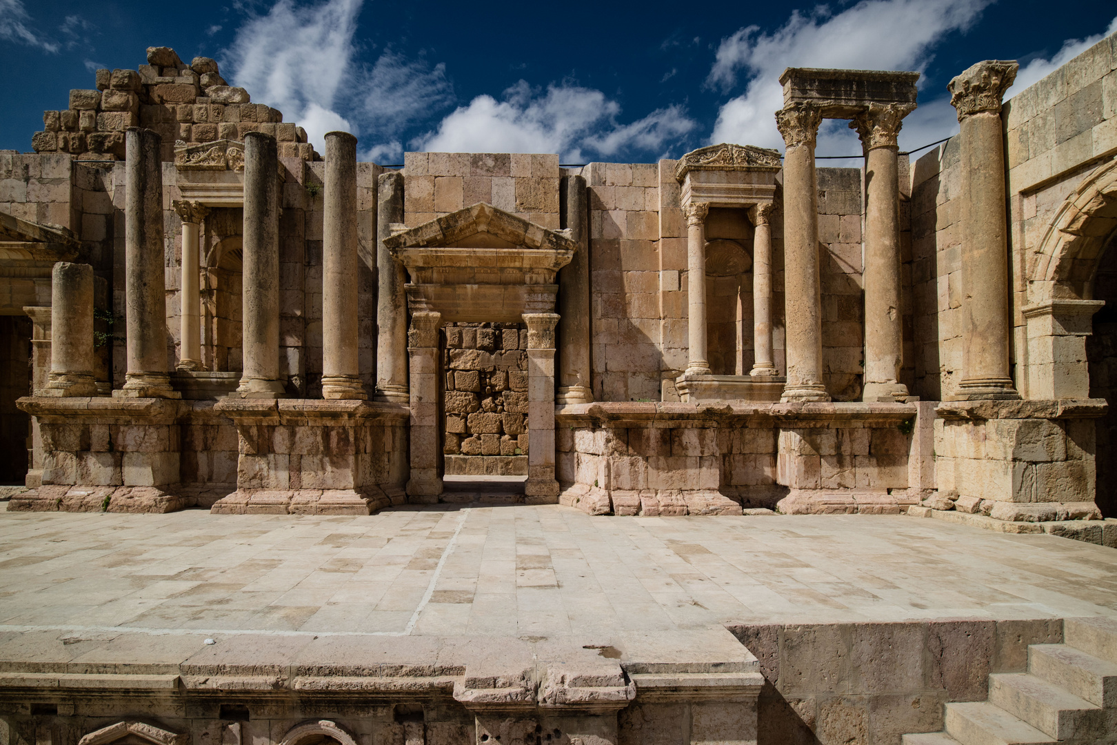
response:
M443 334L446 472L527 474L527 326L457 323Z

